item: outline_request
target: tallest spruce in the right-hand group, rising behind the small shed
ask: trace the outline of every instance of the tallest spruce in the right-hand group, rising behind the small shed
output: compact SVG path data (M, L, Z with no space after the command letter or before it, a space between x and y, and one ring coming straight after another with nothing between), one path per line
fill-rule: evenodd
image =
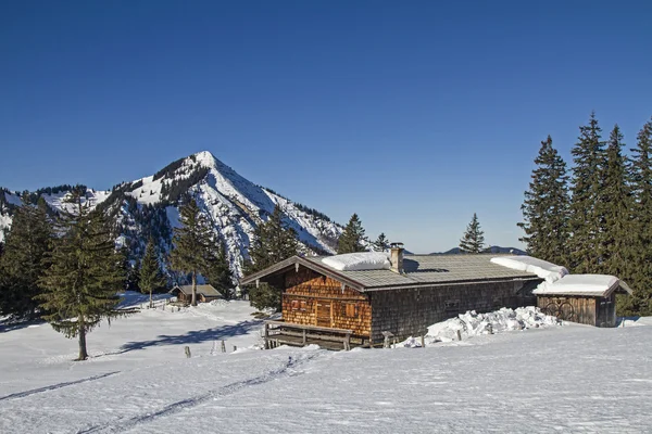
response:
M575 273L599 272L599 233L604 225L600 215L602 168L605 164L602 129L591 113L589 124L579 127L578 142L570 153L575 166L570 200L570 269Z

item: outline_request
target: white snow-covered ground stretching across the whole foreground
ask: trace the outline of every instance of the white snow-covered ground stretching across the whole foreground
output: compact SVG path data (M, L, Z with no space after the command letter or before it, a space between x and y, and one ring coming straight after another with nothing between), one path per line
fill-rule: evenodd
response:
M650 318L426 348L264 352L252 311L145 309L93 331L85 362L47 324L5 329L0 432L652 432Z

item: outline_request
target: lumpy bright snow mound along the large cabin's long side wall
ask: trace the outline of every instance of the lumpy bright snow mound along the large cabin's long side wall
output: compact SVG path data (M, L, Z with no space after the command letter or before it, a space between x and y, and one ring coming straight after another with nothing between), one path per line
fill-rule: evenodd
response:
M451 342L460 337L466 339L481 334L503 333L514 330L526 330L539 327L561 326L556 317L541 312L538 307L518 307L510 309L503 307L488 314L477 314L475 310L468 310L466 314L460 314L457 318L447 319L428 327L428 334L425 336L427 344L436 342ZM421 342L410 337L404 342L405 346L421 346Z

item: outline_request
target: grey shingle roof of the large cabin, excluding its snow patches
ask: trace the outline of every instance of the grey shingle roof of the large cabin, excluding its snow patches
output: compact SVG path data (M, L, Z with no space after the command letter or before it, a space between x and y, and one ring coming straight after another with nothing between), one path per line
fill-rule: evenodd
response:
M496 254L405 255L403 257L404 272L401 275L385 269L340 271L324 264L321 257L293 256L265 270L244 277L240 283L253 283L265 276L285 272L286 269L297 265L303 265L363 292L463 282L539 279L531 272L513 270L491 263L490 259L496 256Z

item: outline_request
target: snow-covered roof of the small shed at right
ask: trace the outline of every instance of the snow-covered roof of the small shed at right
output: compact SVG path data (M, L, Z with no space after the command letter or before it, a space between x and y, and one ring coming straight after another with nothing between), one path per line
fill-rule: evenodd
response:
M631 294L627 283L615 276L606 275L568 275L555 282L544 282L532 291L536 295L587 295L606 297L622 288Z

